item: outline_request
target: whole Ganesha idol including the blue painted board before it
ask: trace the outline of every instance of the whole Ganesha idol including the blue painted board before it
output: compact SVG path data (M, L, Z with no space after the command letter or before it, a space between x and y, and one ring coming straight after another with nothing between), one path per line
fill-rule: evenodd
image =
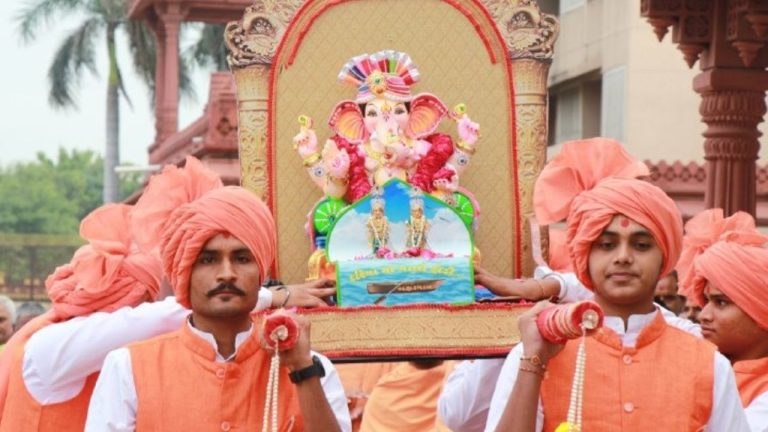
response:
M320 147L299 117L294 147L325 197L309 216L309 278L336 278L342 306L474 301L478 205L459 187L478 125L459 104L411 94L419 71L408 54L352 58L339 81L357 89L336 104ZM456 124L458 140L436 133Z

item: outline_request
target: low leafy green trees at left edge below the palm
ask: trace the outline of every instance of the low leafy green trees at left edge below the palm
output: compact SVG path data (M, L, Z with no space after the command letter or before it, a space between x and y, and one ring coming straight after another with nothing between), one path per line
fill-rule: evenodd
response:
M0 286L40 286L69 261L80 221L101 205L103 164L92 151L61 149L56 160L40 153L34 161L0 167ZM120 180L123 199L143 178L132 173ZM26 237L29 242L20 240Z

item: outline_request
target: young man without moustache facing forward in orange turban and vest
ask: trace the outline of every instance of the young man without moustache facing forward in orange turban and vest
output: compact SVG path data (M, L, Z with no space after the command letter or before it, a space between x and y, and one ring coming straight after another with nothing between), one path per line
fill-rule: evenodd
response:
M657 281L680 255L674 201L624 178L573 192L558 204L568 209L571 260L606 314L604 327L586 338L582 430L746 430L727 359L668 326L653 303ZM543 306L520 319L522 344L504 364L488 431L550 431L568 417L579 340L545 341L535 324Z

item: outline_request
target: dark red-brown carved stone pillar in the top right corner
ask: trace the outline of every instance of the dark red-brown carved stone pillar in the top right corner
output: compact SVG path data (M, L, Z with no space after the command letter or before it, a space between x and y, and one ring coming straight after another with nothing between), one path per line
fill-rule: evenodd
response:
M707 124L707 208L726 215L755 214L755 172L760 143L757 126L766 112L768 89L768 3L759 0L642 0L661 40L672 41L685 61L702 73L693 87L701 94L699 112Z

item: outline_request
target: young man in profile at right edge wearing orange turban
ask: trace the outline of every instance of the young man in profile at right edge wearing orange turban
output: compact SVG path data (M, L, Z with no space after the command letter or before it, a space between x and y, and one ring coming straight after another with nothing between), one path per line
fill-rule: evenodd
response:
M711 245L707 245L707 243ZM733 364L752 432L768 431L768 236L751 215L706 210L686 224L680 273L704 305L704 338Z

